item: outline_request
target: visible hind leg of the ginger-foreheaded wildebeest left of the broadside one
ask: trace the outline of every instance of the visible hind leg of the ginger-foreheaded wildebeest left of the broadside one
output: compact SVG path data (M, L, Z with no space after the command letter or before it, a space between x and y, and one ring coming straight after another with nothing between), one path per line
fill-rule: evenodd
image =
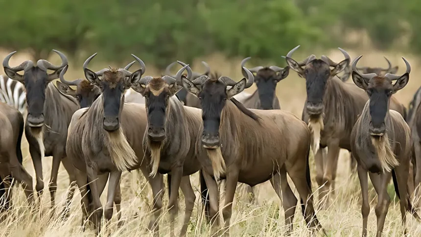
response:
M184 202L186 204L186 211L184 213L183 227L181 228L180 236L186 236L188 222L190 221L191 213L193 212L194 201L196 201L196 195L194 194L190 183L190 176L183 176L183 178L181 178L180 188L184 194Z

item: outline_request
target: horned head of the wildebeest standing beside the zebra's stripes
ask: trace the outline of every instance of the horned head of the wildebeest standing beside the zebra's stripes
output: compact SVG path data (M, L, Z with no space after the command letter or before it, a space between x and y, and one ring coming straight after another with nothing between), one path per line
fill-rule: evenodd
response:
M49 82L57 79L60 72L68 64L66 56L57 51L62 59L60 66L55 66L47 60L38 60L37 65L34 66L32 61L23 62L20 66L11 68L9 60L15 52L7 55L3 60L4 72L13 80L23 83L26 90L26 103L28 105L27 122L30 127L42 127L44 125L44 103L46 100L46 88ZM51 74L47 74L47 70L54 70ZM24 71L23 75L18 74L18 71Z

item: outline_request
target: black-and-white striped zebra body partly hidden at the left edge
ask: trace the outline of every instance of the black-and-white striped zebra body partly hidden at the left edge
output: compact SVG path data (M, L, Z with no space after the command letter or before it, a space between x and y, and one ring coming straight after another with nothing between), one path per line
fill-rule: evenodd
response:
M23 84L6 75L0 75L0 100L13 106L22 114L26 112L26 91Z

